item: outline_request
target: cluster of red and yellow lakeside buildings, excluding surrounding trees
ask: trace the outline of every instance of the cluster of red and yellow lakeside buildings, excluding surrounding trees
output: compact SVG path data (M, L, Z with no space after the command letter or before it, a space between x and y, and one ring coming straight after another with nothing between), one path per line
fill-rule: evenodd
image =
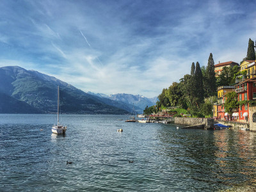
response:
M216 120L235 121L250 124L253 129L253 122L256 122L256 64L255 60L244 60L241 65L233 61L219 63L215 65L216 77L220 76L223 67L232 67L237 65L243 75L237 76L234 84L227 86L219 86L218 99L213 105L213 117ZM225 109L227 94L237 93L237 108L232 109L232 113L228 113Z

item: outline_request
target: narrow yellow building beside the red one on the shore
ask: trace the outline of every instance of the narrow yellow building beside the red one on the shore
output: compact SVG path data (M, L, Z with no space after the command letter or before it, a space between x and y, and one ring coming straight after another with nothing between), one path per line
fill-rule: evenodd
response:
M234 92L234 86L219 86L217 88L217 102L213 105L213 116L220 120L229 120L231 117L225 113L224 104L226 102L227 93Z

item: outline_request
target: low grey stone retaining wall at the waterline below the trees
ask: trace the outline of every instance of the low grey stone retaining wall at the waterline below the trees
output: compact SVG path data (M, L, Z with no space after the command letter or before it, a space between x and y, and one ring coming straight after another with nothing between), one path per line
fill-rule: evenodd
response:
M213 118L188 118L188 117L175 117L175 124L180 125L197 125L197 124L205 124L204 129L210 129L214 127Z

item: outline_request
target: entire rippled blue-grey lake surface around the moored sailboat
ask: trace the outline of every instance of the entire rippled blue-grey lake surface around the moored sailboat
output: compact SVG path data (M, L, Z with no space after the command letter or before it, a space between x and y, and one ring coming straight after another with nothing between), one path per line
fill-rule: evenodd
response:
M255 132L125 123L128 116L122 115L61 118L68 127L65 136L51 132L56 115L0 115L0 191L220 191L256 186ZM124 132L116 131L121 128Z

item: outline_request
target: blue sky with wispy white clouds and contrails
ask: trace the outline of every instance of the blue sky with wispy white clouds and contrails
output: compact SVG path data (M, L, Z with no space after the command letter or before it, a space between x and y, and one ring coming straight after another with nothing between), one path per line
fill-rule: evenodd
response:
M84 92L158 96L191 63L240 63L255 1L0 0L0 67L37 70Z

